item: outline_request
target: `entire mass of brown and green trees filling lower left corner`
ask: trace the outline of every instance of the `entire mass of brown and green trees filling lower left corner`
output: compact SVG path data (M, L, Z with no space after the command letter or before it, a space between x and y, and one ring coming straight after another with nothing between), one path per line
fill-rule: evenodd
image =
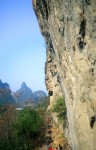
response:
M44 137L44 120L40 111L13 106L0 108L0 150L32 150Z

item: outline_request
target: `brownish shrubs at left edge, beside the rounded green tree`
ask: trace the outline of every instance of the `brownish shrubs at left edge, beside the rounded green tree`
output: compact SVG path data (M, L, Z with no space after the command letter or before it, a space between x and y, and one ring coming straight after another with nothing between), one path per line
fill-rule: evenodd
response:
M14 147L15 123L15 107L9 105L0 107L0 150L11 150L11 147Z

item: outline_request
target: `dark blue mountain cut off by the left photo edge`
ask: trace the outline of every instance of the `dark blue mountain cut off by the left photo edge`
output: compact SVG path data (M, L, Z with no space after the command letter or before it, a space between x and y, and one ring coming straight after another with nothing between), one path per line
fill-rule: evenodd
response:
M8 83L2 83L0 80L0 105L5 104L15 104L15 99L13 98Z

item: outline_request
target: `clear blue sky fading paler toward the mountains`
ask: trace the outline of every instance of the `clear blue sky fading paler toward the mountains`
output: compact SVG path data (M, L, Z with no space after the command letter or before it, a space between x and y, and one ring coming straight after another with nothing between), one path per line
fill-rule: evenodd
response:
M22 82L46 90L44 39L32 0L0 0L0 79L16 91Z

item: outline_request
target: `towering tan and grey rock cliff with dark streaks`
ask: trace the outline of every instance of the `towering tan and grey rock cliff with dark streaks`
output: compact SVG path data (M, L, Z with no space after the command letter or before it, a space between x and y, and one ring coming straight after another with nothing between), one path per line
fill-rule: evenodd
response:
M46 86L65 95L72 147L96 150L96 0L33 0L45 38Z

